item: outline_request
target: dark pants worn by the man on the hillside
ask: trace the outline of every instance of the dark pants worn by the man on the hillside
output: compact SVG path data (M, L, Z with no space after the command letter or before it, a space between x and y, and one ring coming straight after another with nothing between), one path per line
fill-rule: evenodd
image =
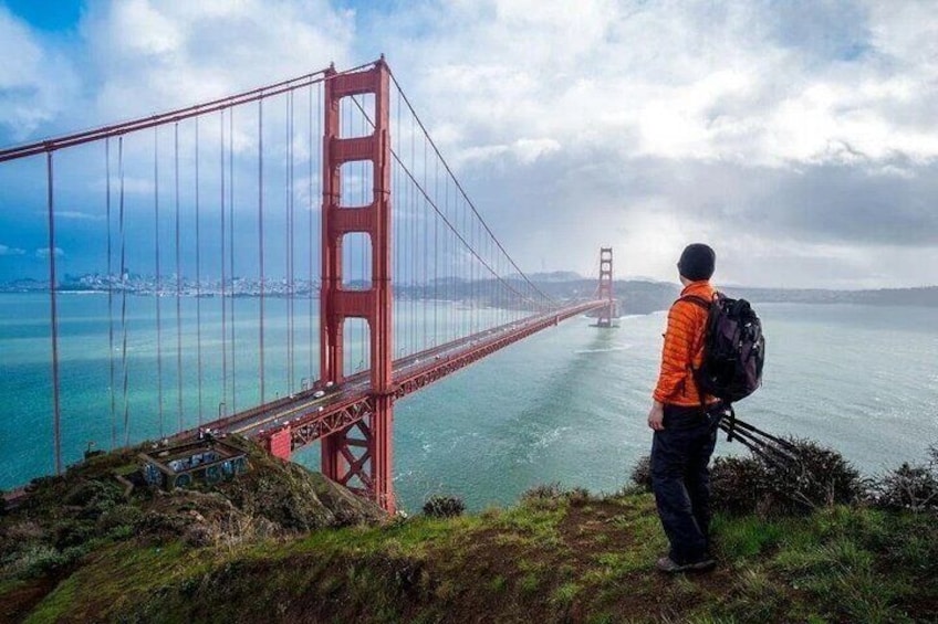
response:
M684 564L707 557L710 541L710 455L722 406L665 405L665 429L652 442L652 489L670 541L670 558Z

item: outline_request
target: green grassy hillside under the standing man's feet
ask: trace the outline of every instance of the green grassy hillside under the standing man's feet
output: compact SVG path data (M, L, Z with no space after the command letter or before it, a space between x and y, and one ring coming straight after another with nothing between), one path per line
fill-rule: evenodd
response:
M242 493L272 480L289 485L289 479L272 476L284 469L301 483L317 483L317 477L301 476L299 467L261 457L256 464L252 484L238 486ZM58 487L71 487L69 478ZM264 505L278 498L264 499ZM194 499L181 507L199 504ZM154 512L144 499L118 505L139 508L144 516ZM61 507L52 512L55 507L46 498L0 525L0 604L7 618L938 621L938 522L930 512L841 505L802 516L721 515L713 527L718 569L664 577L653 569L666 550L654 501L637 489L591 496L542 487L512 508L467 517L376 523L372 510L363 509L359 517L346 515L344 521L321 528L288 528L270 520L275 525L271 530L239 532L219 525L207 539L178 527L148 530L139 519L105 533L103 527L112 522L102 521L105 511L94 520L101 527L94 543L82 542L83 551L69 561L20 561L13 570L10 553L22 552L17 546L22 537L17 541L13 536L35 533L35 527L46 530L48 517L61 514ZM75 517L95 514L87 505L65 507ZM292 517L282 509L271 514L236 507L243 522ZM355 526L335 528L348 522ZM205 523L212 526L208 519Z

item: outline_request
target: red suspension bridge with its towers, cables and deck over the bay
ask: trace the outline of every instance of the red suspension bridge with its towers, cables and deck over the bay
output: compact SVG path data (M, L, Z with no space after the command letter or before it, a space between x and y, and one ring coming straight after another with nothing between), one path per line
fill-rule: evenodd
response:
M325 476L394 511L395 401L569 318L615 314L612 250L595 292L545 294L384 57L3 149L0 176L43 215L56 473L82 443L63 426L75 378L103 389L81 401L112 448L211 430L290 459L319 441ZM79 263L66 245L101 269L63 282ZM62 329L76 287L101 295L104 343ZM62 358L80 349L94 363Z

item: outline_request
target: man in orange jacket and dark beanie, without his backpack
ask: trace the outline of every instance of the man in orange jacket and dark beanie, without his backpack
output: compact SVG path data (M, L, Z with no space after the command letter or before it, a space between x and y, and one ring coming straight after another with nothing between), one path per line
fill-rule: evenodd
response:
M661 371L648 412L652 427L652 489L658 516L670 541L661 572L713 568L709 550L710 455L717 443L718 399L701 395L694 370L704 360L707 309L688 297L710 302L716 253L708 245L688 245L677 264L684 289L668 311Z

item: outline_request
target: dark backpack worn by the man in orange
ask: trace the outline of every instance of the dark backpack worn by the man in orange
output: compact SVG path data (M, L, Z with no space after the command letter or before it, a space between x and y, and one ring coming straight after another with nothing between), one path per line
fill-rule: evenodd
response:
M762 384L765 338L762 324L749 302L717 293L708 302L694 295L681 297L708 311L704 330L704 363L694 370L698 391L732 403Z

